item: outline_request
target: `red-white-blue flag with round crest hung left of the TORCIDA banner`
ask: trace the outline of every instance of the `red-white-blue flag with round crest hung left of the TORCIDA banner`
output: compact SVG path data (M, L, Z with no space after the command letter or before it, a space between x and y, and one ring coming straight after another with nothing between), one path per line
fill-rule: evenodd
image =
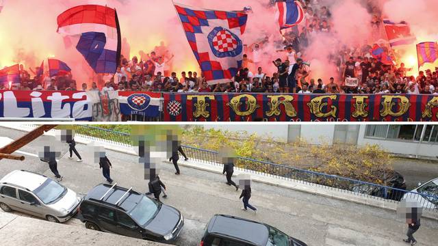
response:
M118 92L120 111L124 115L159 116L160 93L156 92Z

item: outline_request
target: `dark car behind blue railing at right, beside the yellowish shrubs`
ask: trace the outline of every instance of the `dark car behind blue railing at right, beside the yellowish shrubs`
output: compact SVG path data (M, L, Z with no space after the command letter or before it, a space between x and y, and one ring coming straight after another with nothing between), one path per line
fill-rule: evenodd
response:
M371 184L355 184L352 187L352 191L367 195L373 195L376 197L384 197L389 200L400 201L405 192L399 190L406 190L407 188L404 177L398 172L390 172L385 175L385 186L394 189L385 189L384 187L379 187L377 185Z

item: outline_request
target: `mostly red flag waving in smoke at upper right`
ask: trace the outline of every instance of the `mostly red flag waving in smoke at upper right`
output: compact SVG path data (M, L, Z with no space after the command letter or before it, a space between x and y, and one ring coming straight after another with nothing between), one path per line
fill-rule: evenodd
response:
M385 31L391 47L413 44L417 38L411 34L411 28L405 22L394 23L389 19L384 19Z

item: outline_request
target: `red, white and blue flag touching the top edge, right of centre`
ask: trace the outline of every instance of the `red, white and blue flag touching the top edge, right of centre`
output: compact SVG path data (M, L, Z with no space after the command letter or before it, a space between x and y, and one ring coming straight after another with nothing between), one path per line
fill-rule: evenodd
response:
M304 20L304 10L298 1L278 1L276 7L276 18L279 20L280 30L299 25Z

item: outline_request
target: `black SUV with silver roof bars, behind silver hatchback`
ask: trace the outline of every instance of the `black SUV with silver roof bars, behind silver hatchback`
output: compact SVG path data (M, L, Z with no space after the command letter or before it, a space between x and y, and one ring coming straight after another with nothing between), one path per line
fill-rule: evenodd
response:
M150 241L168 242L179 236L183 215L176 208L117 184L99 184L80 206L86 228Z

